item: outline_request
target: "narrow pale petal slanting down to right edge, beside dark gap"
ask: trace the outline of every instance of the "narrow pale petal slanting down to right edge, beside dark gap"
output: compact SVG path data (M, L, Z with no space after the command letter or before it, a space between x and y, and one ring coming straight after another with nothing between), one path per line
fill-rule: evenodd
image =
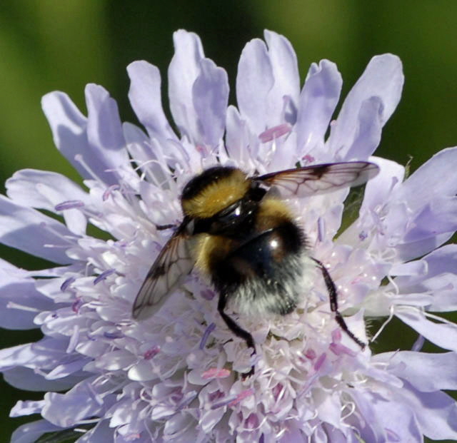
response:
M419 310L406 307L397 307L395 315L435 345L457 352L457 325L431 322Z

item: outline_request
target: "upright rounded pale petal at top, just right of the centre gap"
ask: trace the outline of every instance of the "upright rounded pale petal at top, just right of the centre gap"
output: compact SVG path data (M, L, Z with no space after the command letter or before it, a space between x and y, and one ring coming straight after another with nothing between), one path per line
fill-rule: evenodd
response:
M281 121L267 121L268 93L274 85L273 67L260 39L253 39L243 49L236 76L236 101L243 118L246 118L251 131L258 135L271 123L276 126Z

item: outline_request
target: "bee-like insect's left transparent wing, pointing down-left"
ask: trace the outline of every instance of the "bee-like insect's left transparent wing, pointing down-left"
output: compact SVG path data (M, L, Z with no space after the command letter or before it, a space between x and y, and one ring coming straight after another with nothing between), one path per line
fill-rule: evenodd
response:
M194 267L195 260L189 248L190 236L184 228L185 223L181 223L151 266L136 295L132 309L134 318L141 320L154 315L181 278Z

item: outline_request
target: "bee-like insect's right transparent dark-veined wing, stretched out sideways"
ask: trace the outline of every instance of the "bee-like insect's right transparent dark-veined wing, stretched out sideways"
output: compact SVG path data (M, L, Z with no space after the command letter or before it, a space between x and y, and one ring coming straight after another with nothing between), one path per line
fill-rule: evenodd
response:
M332 192L348 186L362 185L379 171L367 161L326 163L303 168L280 170L253 178L276 188L283 198L307 197Z

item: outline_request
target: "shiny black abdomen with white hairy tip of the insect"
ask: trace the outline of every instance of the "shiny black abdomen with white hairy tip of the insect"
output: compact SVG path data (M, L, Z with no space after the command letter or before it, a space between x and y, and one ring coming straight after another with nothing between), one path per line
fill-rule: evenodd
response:
M239 312L292 312L303 274L304 243L301 229L289 220L259 233L214 263L211 274L216 290L232 300Z

